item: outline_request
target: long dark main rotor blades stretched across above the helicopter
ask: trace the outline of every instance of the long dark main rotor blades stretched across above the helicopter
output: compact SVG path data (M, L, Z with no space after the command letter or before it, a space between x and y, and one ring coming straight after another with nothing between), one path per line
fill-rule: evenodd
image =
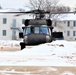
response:
M76 13L74 12L69 12L69 11L58 11L58 12L51 12L51 11L44 11L44 10L32 10L32 11L26 11L26 12L0 12L1 14L71 14L71 13Z

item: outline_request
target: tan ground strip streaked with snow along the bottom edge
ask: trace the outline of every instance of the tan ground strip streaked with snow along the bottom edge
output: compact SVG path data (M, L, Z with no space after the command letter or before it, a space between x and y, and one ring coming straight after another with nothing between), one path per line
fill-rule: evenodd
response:
M76 75L74 67L3 66L0 75Z

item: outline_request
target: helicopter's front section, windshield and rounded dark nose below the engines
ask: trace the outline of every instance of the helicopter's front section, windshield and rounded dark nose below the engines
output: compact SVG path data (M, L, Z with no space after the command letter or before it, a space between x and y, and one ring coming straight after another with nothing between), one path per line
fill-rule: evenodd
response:
M23 30L23 39L26 45L38 45L51 42L51 31L46 25L28 26Z

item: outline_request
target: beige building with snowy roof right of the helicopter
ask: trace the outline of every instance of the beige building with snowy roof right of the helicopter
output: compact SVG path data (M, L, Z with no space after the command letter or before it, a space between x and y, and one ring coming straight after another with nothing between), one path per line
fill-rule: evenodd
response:
M55 24L56 23L56 24ZM65 17L54 22L54 31L62 31L64 39L76 40L76 14L65 14Z

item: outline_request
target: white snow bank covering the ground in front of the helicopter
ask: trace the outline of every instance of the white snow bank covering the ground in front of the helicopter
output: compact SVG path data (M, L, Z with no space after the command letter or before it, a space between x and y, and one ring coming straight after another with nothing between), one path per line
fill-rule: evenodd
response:
M3 46L19 46L20 41L0 41ZM56 40L15 52L0 51L0 65L13 66L76 66L76 44ZM62 74L63 75L63 74Z

